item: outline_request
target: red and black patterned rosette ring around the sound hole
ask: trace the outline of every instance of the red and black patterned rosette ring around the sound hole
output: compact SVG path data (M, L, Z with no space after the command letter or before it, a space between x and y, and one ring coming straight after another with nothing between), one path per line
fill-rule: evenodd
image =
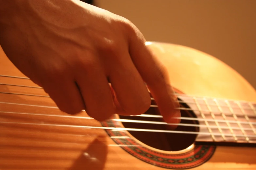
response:
M116 119L116 118L115 118ZM120 122L108 120L102 122L104 127L121 127ZM145 146L141 146L134 139L130 138L126 131L112 131L107 129L109 136L127 136L128 138L112 138L113 141L120 145L134 157L155 166L168 169L189 169L199 166L208 161L214 151L215 146L196 145L194 149L182 154L165 154ZM125 147L123 147L126 145Z

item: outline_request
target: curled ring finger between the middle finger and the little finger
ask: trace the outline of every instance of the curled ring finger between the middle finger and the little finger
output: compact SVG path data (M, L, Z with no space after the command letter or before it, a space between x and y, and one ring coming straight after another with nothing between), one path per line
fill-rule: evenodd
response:
M81 63L76 77L84 98L86 112L98 121L106 120L115 113L111 89L99 63Z

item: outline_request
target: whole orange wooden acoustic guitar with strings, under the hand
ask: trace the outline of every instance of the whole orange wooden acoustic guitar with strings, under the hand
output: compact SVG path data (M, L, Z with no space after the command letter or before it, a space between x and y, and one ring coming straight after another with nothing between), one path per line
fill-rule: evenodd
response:
M256 169L256 91L216 58L147 42L179 98L177 129L152 97L139 116L61 112L0 51L0 170Z

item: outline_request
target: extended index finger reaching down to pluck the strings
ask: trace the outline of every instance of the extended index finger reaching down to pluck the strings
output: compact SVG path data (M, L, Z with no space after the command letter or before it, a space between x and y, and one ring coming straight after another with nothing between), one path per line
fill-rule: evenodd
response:
M145 46L145 39L137 33L130 38L129 53L132 61L146 82L152 96L154 97L163 119L167 123L179 123L180 111L177 98L169 81L165 67L156 56Z

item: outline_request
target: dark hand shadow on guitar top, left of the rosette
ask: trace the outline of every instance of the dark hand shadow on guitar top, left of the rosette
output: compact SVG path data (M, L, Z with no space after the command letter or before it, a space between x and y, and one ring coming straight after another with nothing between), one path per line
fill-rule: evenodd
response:
M103 170L107 159L106 136L98 136L74 162L69 170Z

